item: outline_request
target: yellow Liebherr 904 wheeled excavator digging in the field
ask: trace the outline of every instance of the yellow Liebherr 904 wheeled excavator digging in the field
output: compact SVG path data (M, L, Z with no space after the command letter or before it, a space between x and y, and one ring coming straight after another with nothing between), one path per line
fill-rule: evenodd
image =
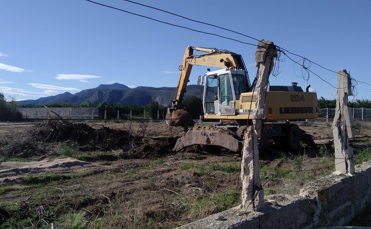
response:
M194 50L204 52L194 55ZM184 93L193 65L214 66L221 68L198 76L198 85L203 85L204 119L236 120L236 125L220 125L229 130L218 131L218 128L193 128L179 138L174 150L178 151L188 145L219 145L232 151L242 149L242 136L247 125L252 124L252 112L256 103L256 82L250 82L242 56L225 49L193 48L185 50L175 98L171 100L172 108L168 108L167 119L181 108ZM316 147L311 135L306 134L298 125L289 122L273 122L273 120L305 120L318 117L318 101L315 92L309 92L293 82L290 86L271 86L266 90L265 135L260 145L265 146L268 138L273 138L279 147L296 150L301 141ZM169 120L167 120L169 124ZM263 141L263 142L262 142ZM262 147L259 147L260 149Z

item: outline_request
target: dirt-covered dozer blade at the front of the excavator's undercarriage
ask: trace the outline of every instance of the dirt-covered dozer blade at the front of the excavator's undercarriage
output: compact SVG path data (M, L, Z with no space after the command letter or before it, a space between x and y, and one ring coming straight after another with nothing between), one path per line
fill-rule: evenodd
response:
M175 143L173 150L179 151L186 146L200 144L219 145L231 151L241 152L242 140L243 139L238 137L237 135L219 131L190 130L177 140L177 143Z

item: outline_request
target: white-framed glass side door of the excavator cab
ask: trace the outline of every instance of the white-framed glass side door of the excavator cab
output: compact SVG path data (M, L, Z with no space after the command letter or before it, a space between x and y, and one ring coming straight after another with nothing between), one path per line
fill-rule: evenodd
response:
M230 71L223 71L218 74L218 103L219 114L234 115L236 110L236 95L232 83Z

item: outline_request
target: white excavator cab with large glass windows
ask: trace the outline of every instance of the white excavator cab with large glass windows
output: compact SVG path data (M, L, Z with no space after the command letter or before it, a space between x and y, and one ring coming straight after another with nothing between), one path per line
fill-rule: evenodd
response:
M246 92L244 70L221 69L206 74L204 114L234 115L236 99Z

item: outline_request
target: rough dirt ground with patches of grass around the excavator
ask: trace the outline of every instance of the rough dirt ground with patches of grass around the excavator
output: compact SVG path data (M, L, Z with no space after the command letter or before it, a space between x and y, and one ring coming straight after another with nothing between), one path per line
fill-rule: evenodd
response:
M183 128L161 122L86 123L96 130L103 125L145 133L141 141L132 143L141 152L130 149L128 153L125 147L100 150L94 140L86 144L27 140L27 147L12 148L14 142L28 139L30 131L40 126L0 123L1 228L50 228L51 223L55 228L70 229L175 228L239 205L238 153L205 152L197 146L178 153L158 153L153 145L183 133ZM302 145L295 152L282 151L270 141L260 156L260 179L266 195L298 194L306 183L334 171L331 127L313 124L300 128L313 135L319 149ZM371 159L370 137L371 128L362 126L351 140L357 163ZM76 169L58 161L64 158L88 164ZM51 165L41 170L27 167L27 162L42 160ZM12 161L17 163L10 164ZM9 172L10 165L16 173ZM9 173L1 173L3 170Z

